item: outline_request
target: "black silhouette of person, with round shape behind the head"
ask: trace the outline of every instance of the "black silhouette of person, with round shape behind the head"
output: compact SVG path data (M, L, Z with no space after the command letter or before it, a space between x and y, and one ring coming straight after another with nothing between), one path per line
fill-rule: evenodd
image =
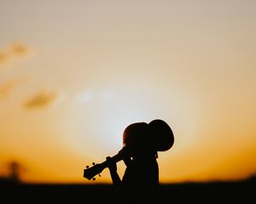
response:
M132 123L125 128L124 147L119 151L126 165L122 180L116 163L108 166L113 185L124 203L160 203L157 151L170 149L173 142L172 129L159 119L149 124Z

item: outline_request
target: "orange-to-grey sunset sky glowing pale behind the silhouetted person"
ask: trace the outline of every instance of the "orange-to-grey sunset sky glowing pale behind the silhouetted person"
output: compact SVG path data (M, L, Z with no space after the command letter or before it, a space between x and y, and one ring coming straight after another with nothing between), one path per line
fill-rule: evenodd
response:
M91 184L156 118L175 136L161 183L256 173L256 1L1 0L0 26L0 176Z

